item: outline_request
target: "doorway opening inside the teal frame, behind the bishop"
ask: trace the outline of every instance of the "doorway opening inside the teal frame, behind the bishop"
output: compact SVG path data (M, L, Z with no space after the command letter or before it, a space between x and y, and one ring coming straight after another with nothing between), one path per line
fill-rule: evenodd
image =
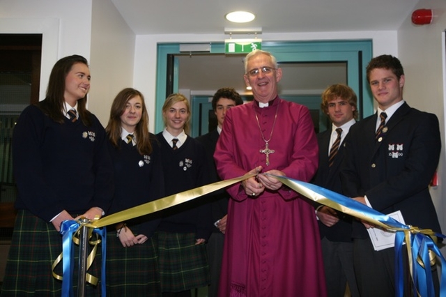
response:
M217 119L211 101L217 89L231 87L240 93L244 102L253 100L252 91L245 88L243 80L243 63L240 63L243 62L243 57L193 54L178 55L177 59L178 92L190 95L192 137L206 134L216 128ZM197 69L197 65L201 69ZM206 69L206 66L210 67L210 70ZM347 83L346 63L279 63L279 68L282 68L283 73L279 82L280 97L307 106L316 133L328 128L330 120L320 108L321 93L330 84ZM214 75L215 79L209 79L215 69L224 75ZM203 85L203 82L206 82L206 85Z

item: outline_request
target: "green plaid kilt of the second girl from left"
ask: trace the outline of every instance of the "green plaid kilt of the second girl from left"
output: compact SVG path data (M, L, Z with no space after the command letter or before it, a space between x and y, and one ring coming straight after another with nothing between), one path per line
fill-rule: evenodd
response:
M142 245L124 248L114 227L107 232L107 296L161 296L156 236ZM137 226L130 226L138 234Z

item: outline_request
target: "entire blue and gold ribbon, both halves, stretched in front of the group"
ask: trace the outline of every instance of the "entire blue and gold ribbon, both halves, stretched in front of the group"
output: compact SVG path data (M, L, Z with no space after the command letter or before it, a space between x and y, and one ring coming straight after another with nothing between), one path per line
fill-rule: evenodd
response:
M391 218L388 215L383 215L382 213L375 211L373 208L369 208L369 206L345 197L344 195L340 195L337 192L332 192L328 189L321 188L317 185L305 183L302 181L296 181L292 178L287 178L286 176L275 176L271 174L268 175L279 179L279 181L281 181L284 185L288 186L295 192L298 192L300 195L316 201L319 204L323 204L337 211L341 211L342 213L352 215L359 220L370 222L371 224L374 224L376 227L384 229L385 231L395 232L395 282L397 283L397 297L403 296L403 243L406 243L406 248L408 250L410 275L412 276L413 283L415 285L415 288L417 289L417 292L415 292L415 294L419 294L420 296L434 296L433 282L430 271L430 261L432 259L431 257L429 257L429 254L436 254L438 259L440 259L442 268L445 268L442 269L442 273L440 276L440 296L446 297L446 261L440 250L438 249L436 243L432 240L432 238L435 237L445 238L446 236L433 232L431 229L418 229L417 227L401 224L397 220L394 220L394 218ZM252 176L255 176L255 174L240 176L238 178L232 178L226 181L219 181L217 183L211 183L199 188L180 192L175 195L157 199L146 204L141 204L140 206L135 206L125 211L114 213L113 215L108 215L99 220L86 223L84 227L89 227L94 230L105 230L105 228L102 227L108 226L109 224L116 224L118 222L123 222L132 218L138 218L142 215L155 213L156 211L161 211L171 206L191 201L210 192L226 188L229 185L233 185L234 183L238 183ZM66 235L64 235L63 240L63 257L72 259L72 248L68 248L66 247L66 245L70 245L68 241L70 241L70 238L73 237L73 234L77 232L79 226L74 223L69 223L74 221L66 222L68 225L66 228L64 228L64 230L67 231L65 231ZM102 231L102 233L102 295L105 296L105 238L107 236L105 235L105 231ZM64 287L68 288L72 287L70 281L71 277L68 272L66 275L65 269L69 269L70 271L72 271L73 264L72 261L67 262L68 264L64 263L63 266L63 282ZM443 273L443 271L445 272Z

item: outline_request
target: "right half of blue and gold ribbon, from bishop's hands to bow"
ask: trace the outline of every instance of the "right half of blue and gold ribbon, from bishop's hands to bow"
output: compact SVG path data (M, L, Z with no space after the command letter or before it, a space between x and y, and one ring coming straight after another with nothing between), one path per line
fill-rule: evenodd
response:
M431 264L435 265L436 255L440 259L441 270L440 275L440 296L446 296L446 261L441 254L438 246L433 238L445 238L443 234L438 234L431 229L419 229L406 224L401 224L394 218L364 205L358 201L332 192L328 189L321 188L318 185L296 181L285 176L273 176L284 185L295 190L300 195L307 197L325 206L329 206L337 211L352 215L355 218L364 220L374 224L385 231L395 233L395 296L404 296L403 291L403 243L406 243L408 251L409 271L414 284L414 296L433 297L435 292L433 289L433 280L431 273Z

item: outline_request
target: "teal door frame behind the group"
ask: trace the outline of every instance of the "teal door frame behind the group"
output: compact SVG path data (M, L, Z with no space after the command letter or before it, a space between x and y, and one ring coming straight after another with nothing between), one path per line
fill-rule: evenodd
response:
M371 40L324 40L324 41L287 41L263 42L262 50L274 54L278 63L318 63L318 62L346 62L347 84L357 94L357 107L360 119L374 113L373 98L369 92L366 79L366 66L372 58ZM168 56L180 54L179 43L157 45L157 83L155 102L155 132L164 128L162 121L162 105L167 97L167 67ZM224 43L213 43L210 54L224 54ZM173 81L173 92L178 92L178 61L174 59L174 73L169 77ZM199 114L193 109L192 116ZM192 136L199 123L192 119ZM203 125L203 124L201 124ZM195 126L195 128L194 128Z

